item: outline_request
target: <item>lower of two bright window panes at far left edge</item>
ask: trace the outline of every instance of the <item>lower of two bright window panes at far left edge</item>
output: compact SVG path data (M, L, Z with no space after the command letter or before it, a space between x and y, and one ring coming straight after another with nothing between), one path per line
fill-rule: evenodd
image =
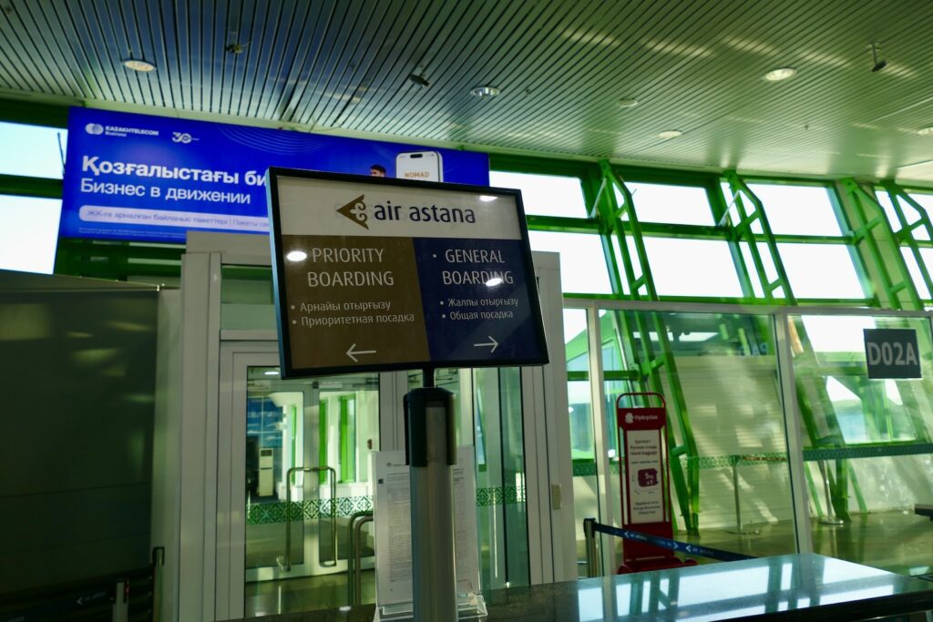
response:
M0 270L51 274L61 214L58 199L0 195Z

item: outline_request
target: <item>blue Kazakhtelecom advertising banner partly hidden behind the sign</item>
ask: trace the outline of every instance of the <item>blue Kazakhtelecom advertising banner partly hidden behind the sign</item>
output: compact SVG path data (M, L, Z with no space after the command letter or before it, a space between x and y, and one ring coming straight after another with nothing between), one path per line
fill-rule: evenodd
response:
M184 242L188 229L268 234L269 167L489 184L482 153L72 108L60 235Z

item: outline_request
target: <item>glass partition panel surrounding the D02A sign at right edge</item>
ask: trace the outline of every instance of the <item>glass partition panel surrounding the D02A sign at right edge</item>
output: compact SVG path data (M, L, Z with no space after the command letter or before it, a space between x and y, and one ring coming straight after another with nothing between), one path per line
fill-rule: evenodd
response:
M926 317L793 315L793 368L815 552L902 574L931 572L933 349ZM871 380L864 330L906 328L921 379Z

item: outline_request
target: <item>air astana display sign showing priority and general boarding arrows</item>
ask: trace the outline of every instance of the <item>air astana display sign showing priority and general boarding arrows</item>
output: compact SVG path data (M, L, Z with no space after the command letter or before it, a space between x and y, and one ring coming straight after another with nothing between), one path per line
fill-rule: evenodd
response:
M518 190L268 175L285 378L548 362Z

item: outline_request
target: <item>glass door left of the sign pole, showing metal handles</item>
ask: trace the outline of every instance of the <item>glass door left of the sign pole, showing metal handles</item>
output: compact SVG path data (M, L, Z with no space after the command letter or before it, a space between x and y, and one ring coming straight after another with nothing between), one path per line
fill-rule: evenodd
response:
M350 520L371 510L379 375L282 380L274 354L241 355L244 382L244 615L347 603ZM236 389L234 389L236 392ZM371 536L362 542L372 600ZM369 571L369 572L368 572Z

